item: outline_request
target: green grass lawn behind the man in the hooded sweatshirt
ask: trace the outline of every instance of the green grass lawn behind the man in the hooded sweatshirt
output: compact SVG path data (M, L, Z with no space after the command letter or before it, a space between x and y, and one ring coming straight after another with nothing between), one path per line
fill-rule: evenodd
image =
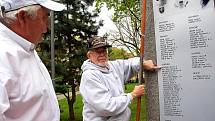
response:
M131 90L133 90L134 86L136 84L132 83L132 84L127 84L127 90L125 90L126 92L131 92ZM75 112L75 121L82 121L82 107L83 107L83 103L82 103L82 98L80 95L76 96L76 102L74 104L74 112ZM59 100L59 105L60 105L60 109L61 109L61 121L68 121L68 105L66 102L66 99L62 99ZM142 102L141 102L141 120L140 121L146 121L146 109L145 109L145 98L144 96L142 97ZM135 121L136 120L136 107L137 107L137 100L135 99L131 105L129 106L131 109L131 121Z

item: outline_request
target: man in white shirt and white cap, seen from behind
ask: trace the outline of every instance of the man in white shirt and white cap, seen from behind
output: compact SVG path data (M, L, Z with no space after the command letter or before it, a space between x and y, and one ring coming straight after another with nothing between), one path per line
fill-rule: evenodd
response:
M0 121L59 121L50 75L35 45L47 31L51 0L0 0Z

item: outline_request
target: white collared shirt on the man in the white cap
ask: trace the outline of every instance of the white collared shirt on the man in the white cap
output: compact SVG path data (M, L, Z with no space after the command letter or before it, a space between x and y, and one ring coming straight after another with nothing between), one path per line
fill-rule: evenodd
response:
M50 75L35 45L0 23L0 121L59 121Z

